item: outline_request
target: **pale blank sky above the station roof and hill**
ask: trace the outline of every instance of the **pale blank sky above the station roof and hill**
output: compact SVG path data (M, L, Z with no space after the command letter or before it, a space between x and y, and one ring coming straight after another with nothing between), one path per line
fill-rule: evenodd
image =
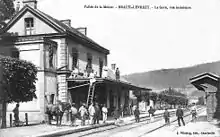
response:
M84 5L190 6L192 9L89 9ZM110 50L122 74L220 60L220 0L38 0L38 8Z

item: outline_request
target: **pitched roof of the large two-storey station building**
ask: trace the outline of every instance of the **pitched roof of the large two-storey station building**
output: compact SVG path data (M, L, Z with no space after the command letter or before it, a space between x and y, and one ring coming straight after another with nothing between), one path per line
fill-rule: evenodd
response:
M7 23L6 31L10 28L11 25L16 22L17 18L21 17L26 10L29 10L34 15L40 17L44 22L50 24L52 27L54 27L56 30L58 30L60 33L67 33L68 35L80 40L81 42L86 42L89 44L89 46L92 46L91 48L96 48L98 50L101 50L105 54L109 54L109 50L100 46L95 41L87 37L86 35L79 32L77 29L67 26L66 24L62 23L61 21L51 17L50 15L38 10L33 9L32 7L25 5L17 14L15 14L12 19Z

